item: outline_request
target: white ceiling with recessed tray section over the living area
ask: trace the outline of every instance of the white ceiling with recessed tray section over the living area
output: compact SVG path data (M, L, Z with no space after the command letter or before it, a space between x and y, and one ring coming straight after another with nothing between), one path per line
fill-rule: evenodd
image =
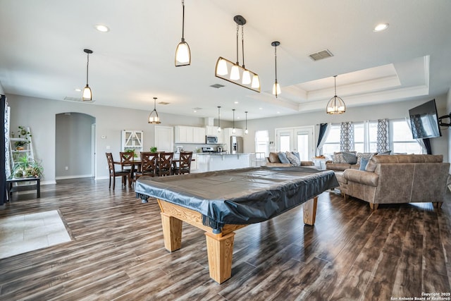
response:
M246 67L261 93L214 76L218 56L236 60L236 23L247 19ZM94 104L185 116L263 118L325 111L337 94L353 106L445 94L451 87L449 0L186 0L191 66L174 66L181 1L0 0L0 83L6 94L68 102L86 83ZM109 26L98 32L95 24ZM378 23L388 30L373 32ZM282 94L272 94L274 47ZM313 61L328 49L333 56ZM242 58L240 55L240 63ZM226 87L215 89L210 85ZM235 102L238 102L235 104ZM194 113L193 108L198 109Z

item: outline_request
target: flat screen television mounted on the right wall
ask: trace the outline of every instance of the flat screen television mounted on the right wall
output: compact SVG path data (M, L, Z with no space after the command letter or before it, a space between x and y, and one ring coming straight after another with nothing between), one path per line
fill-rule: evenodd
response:
M409 116L414 139L434 138L442 135L438 125L435 99L409 109Z

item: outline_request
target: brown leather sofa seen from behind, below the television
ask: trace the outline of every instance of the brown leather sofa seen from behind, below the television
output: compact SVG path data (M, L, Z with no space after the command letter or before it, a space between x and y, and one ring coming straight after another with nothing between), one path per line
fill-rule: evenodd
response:
M345 198L357 197L378 204L433 202L440 208L445 198L450 163L443 155L374 155L364 170L342 172L340 190Z

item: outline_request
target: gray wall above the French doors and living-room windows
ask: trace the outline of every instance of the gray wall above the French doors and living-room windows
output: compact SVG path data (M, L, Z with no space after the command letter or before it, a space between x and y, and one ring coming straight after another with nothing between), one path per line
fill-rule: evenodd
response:
M280 116L276 118L261 118L247 121L248 137L245 137L245 152L255 152L254 133L256 130L268 130L269 141L276 141L276 128L291 128L304 125L319 125L320 123L341 123L342 121L375 121L377 119L404 118L409 116L409 109L419 104L423 104L434 97L424 97L421 99L393 102L375 106L359 106L347 108L341 115L328 115L325 111L315 111L311 113L294 114L290 116ZM449 97L448 97L449 99ZM345 101L346 102L346 101ZM435 97L439 116L447 114L447 95ZM451 100L448 100L451 102ZM451 104L450 104L451 106ZM236 124L236 122L235 122ZM237 128L244 128L245 123L240 121ZM318 141L319 127L316 126L315 141ZM443 137L431 139L433 154L443 154L445 161L448 161L448 135L447 128L441 128ZM250 139L249 139L250 138Z

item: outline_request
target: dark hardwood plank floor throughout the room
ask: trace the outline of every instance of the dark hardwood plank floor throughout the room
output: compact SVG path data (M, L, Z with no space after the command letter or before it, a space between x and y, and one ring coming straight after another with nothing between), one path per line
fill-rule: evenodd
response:
M120 180L115 191L108 180L78 179L42 185L40 199L15 193L0 222L54 209L73 240L0 259L0 300L395 300L451 291L451 203L373 212L324 192L315 226L304 226L300 206L236 231L232 278L222 285L209 278L203 231L184 224L182 249L169 253L158 204L141 204Z

